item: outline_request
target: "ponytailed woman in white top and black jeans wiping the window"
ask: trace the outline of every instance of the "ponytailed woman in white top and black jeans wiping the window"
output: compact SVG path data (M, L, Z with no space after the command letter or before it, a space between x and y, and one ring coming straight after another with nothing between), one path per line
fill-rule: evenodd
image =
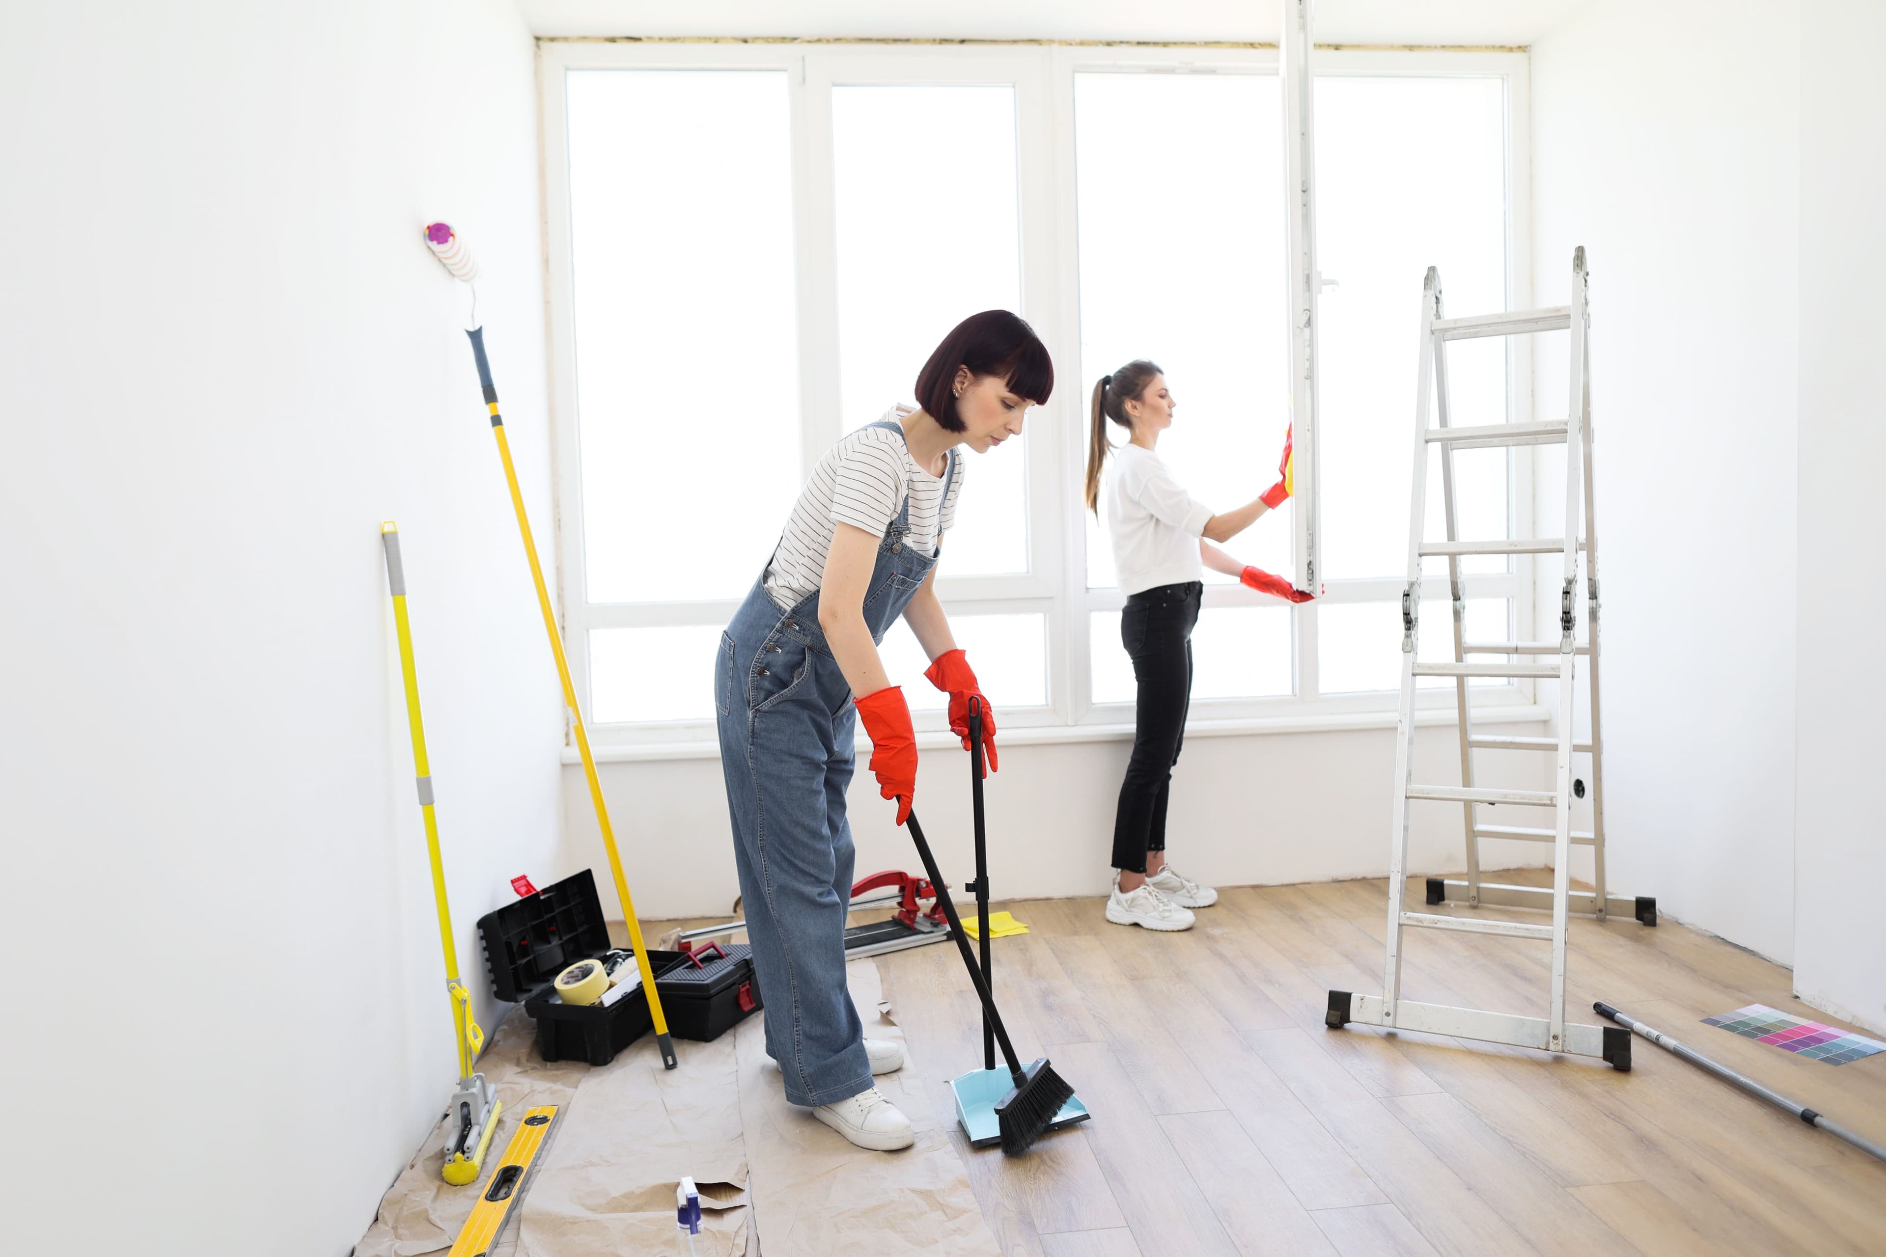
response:
M1120 592L1126 594L1120 645L1132 656L1139 682L1133 756L1126 763L1113 820L1113 867L1118 873L1107 897L1107 920L1145 929L1192 929L1192 908L1218 901L1216 890L1166 863L1166 799L1192 703L1192 626L1205 592L1201 569L1222 571L1294 603L1309 599L1290 582L1245 567L1213 545L1245 531L1290 496L1290 441L1284 441L1282 479L1277 484L1235 511L1213 514L1173 481L1156 452L1175 407L1158 366L1128 362L1094 384L1086 454L1086 507L1096 514L1101 469L1107 454L1115 454L1107 475L1107 533L1113 537ZM1128 430L1128 445L1115 447L1107 439L1109 418Z

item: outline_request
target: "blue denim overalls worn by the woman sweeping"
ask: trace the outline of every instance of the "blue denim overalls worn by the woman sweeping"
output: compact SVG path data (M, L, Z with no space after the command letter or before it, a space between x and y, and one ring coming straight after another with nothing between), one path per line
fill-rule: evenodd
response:
M890 420L871 424L903 428ZM949 452L943 498L956 475ZM903 545L911 499L877 547L864 594L873 643L909 605L935 552ZM771 562L768 562L771 565ZM734 820L734 865L753 965L766 1001L766 1052L779 1061L786 1101L832 1104L871 1087L864 1025L845 989L845 914L852 844L845 788L856 709L819 629L819 594L792 611L766 592L766 573L720 633L715 658L720 771Z

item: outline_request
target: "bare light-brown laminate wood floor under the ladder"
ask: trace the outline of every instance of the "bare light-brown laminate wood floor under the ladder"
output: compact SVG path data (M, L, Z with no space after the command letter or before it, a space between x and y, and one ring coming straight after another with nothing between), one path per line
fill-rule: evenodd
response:
M1381 991L1382 880L1222 890L1177 935L1109 925L1101 899L1000 906L1032 929L994 942L1017 1050L1094 1112L1026 1157L956 1133L1011 1257L1886 1253L1886 1165L1641 1038L1618 1074L1326 1029L1328 989ZM875 959L949 1112L983 1050L962 961ZM1545 1016L1547 976L1539 942L1409 931L1411 999ZM1835 1023L1778 965L1667 920L1573 918L1567 1016L1596 1021L1594 999L1886 1142L1886 1053L1833 1067L1699 1025L1750 1003Z

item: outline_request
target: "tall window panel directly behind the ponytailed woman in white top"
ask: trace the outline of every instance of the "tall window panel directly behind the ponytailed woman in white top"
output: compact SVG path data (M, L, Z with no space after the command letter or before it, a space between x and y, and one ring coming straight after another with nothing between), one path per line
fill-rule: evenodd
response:
M1073 75L1081 249L1081 383L1149 358L1173 426L1160 458L1199 501L1235 507L1277 481L1284 398L1282 102L1273 72ZM1107 424L1113 443L1126 430ZM1226 550L1290 573L1290 503ZM1132 703L1113 547L1084 520L1092 703ZM1192 695L1292 692L1290 609L1205 573ZM1124 714L1122 714L1124 718Z

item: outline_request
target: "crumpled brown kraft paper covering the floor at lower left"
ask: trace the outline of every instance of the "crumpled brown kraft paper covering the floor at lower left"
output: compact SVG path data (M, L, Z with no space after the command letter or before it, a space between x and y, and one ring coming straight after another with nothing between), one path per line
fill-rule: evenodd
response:
M871 1038L902 1040L881 1004L877 965L847 967L852 1003ZM753 1016L717 1042L677 1042L681 1069L664 1070L645 1037L604 1069L538 1057L522 1008L498 1027L479 1069L504 1102L487 1155L498 1163L532 1104L560 1104L558 1131L530 1195L494 1257L617 1257L673 1253L675 1182L702 1193L702 1257L860 1253L888 1257L994 1255L949 1127L920 1063L877 1080L917 1125L917 1144L883 1153L852 1148L803 1108L786 1104ZM439 1180L445 1121L400 1172L355 1257L419 1257L451 1248L473 1187ZM1000 1155L1000 1153L975 1153ZM483 1184L481 1184L483 1185Z

